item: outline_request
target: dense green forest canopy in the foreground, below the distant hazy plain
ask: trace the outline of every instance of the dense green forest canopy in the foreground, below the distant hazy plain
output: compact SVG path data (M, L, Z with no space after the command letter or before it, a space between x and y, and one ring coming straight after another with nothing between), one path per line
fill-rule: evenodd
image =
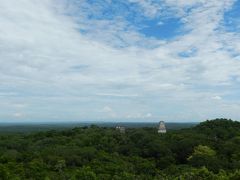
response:
M240 123L0 135L0 179L240 179Z

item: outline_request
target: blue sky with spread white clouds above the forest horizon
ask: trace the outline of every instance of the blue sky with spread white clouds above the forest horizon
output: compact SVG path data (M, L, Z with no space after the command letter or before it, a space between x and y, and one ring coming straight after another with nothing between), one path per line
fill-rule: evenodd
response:
M240 0L0 0L0 121L240 120Z

